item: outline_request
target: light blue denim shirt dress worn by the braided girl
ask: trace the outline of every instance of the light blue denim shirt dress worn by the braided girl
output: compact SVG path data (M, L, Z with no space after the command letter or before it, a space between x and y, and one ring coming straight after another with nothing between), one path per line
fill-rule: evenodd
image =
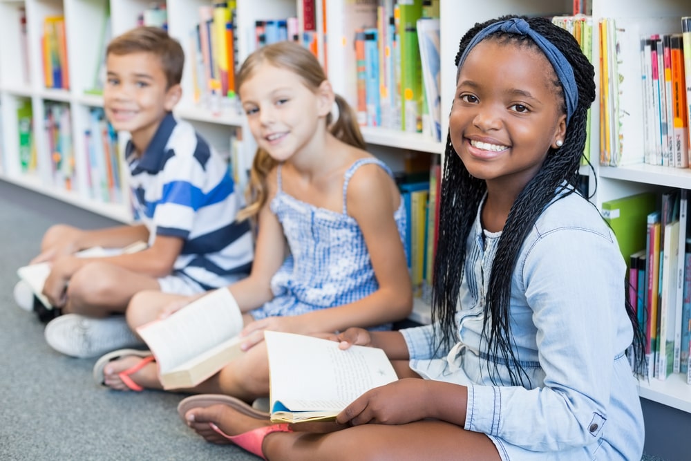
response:
M527 236L510 306L526 387L511 386L503 366L496 373L480 343L500 234L484 231L478 212L461 281L458 343L446 357L435 356L431 326L401 330L410 367L468 386L465 429L489 435L502 460L640 460L643 415L624 355L633 330L614 234L593 205L571 194L554 200Z

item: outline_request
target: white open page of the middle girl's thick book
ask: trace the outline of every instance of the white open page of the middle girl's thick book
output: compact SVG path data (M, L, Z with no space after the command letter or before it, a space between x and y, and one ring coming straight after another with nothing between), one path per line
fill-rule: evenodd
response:
M219 288L167 319L137 328L137 332L163 374L238 335L242 329L243 314L238 303L227 288Z

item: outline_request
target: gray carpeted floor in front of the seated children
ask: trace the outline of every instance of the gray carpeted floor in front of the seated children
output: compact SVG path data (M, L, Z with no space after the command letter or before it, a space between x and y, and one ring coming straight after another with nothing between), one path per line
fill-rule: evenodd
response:
M0 460L256 460L209 444L178 418L181 394L120 393L91 378L95 359L50 349L44 326L12 300L15 271L48 226L112 222L0 181Z

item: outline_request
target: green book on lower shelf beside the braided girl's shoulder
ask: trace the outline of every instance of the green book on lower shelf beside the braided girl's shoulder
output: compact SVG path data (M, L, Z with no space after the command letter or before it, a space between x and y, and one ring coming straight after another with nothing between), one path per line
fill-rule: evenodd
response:
M630 256L645 248L647 215L655 211L656 203L652 192L603 202L603 218L612 227L627 266Z

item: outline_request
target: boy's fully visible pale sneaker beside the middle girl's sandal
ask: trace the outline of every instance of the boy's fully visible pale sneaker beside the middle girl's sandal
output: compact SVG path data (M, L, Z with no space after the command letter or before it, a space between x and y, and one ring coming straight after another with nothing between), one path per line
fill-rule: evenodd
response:
M65 314L46 325L44 332L50 347L71 357L100 357L111 350L140 346L127 326L124 316L92 319L79 314Z

